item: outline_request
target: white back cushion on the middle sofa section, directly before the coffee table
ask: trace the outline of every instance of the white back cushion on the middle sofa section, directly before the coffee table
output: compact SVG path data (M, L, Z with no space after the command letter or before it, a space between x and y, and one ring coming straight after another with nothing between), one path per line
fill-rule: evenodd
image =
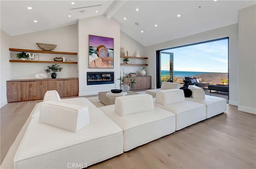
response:
M150 110L154 110L153 97L150 94L116 97L115 112L120 116L128 116Z

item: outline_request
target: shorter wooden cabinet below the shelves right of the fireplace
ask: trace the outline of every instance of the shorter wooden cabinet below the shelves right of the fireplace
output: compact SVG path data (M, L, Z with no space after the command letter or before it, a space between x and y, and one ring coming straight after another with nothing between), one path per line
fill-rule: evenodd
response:
M135 76L135 77L127 77L125 79L125 83L130 85L130 79L135 78L136 84L134 88L130 87L130 90L140 90L140 89L148 89L151 88L151 76Z

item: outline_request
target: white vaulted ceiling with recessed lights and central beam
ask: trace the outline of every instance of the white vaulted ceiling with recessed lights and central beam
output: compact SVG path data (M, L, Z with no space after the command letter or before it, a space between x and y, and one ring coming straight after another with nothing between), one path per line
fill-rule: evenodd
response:
M104 14L118 20L121 31L149 46L238 23L238 10L253 4L255 0L1 0L1 29L19 35Z

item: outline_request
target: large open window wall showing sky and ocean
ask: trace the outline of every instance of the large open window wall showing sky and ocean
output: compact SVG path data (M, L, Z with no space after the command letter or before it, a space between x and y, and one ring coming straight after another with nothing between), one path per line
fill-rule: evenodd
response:
M166 53L170 53L172 57ZM158 88L163 79L182 83L184 77L198 77L202 82L210 84L222 83L221 79L228 79L228 38L163 49L156 54ZM173 73L170 69L171 62Z

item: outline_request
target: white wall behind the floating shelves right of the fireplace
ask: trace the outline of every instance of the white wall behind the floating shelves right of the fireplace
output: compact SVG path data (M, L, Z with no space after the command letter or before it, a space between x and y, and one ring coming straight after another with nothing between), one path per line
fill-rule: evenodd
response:
M128 56L135 56L137 51L140 50L141 57L147 57L146 56L146 47L138 43L136 40L132 39L129 35L127 35L124 32L120 32L120 45L124 47L125 56L126 51L128 51ZM139 58L139 57L138 57ZM148 59L134 59L136 60L137 64L146 63L148 62ZM120 63L124 63L124 58L120 58ZM126 75L130 72L139 73L139 67L138 66L131 66L131 65L121 65L120 69L124 69L126 72ZM147 66L145 66L145 70L147 71Z

